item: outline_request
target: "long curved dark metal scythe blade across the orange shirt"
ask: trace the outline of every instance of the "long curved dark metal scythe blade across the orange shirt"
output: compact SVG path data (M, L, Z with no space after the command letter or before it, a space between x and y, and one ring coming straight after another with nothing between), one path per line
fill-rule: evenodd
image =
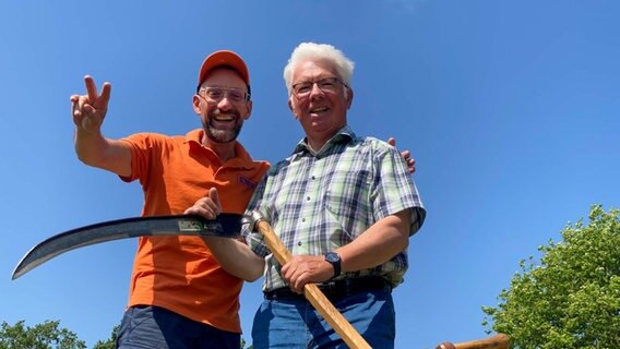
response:
M31 249L13 270L12 279L32 270L55 256L106 241L155 236L214 236L237 238L241 215L220 214L215 219L194 215L134 217L109 220L72 229L53 236Z

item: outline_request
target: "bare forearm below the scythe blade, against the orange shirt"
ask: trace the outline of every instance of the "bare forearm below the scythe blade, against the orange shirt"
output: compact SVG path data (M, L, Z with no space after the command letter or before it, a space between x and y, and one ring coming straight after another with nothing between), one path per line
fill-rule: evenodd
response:
M216 237L204 237L203 240L228 274L246 281L254 281L263 275L264 258L255 254L243 242Z

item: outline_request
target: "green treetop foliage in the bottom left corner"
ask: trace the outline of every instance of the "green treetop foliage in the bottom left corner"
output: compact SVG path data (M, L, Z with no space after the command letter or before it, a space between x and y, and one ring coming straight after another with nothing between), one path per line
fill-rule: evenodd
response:
M60 328L59 321L46 321L34 327L19 321L11 326L0 325L0 349L86 349L86 342L67 328Z

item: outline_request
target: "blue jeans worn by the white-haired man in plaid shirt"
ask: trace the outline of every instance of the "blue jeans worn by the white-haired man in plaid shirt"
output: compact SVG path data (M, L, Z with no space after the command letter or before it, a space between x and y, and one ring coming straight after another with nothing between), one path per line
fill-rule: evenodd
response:
M394 348L396 337L392 294L365 291L338 300L336 309L372 348ZM306 300L264 300L252 326L252 346L266 348L348 348Z

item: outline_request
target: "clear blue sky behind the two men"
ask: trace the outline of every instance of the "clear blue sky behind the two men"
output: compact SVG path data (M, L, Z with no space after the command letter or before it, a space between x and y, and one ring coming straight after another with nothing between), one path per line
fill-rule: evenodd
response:
M63 254L11 281L41 240L140 215L138 183L82 165L69 96L112 84L104 133L183 134L210 52L250 65L254 108L240 141L257 159L302 136L282 70L301 41L356 62L348 120L417 159L428 210L394 291L396 348L485 337L518 262L592 204L620 206L617 1L0 2L0 321L59 320L92 347L120 322L135 241ZM247 340L261 300L247 284Z

